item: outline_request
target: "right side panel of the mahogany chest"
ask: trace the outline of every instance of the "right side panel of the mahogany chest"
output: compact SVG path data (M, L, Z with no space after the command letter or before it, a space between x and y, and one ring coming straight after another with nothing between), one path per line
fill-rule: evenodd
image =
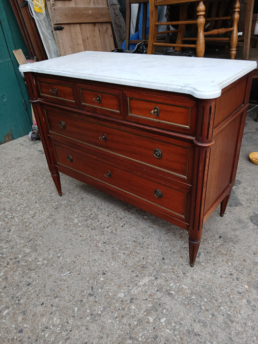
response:
M217 99L211 146L205 220L230 193L243 137L252 78L249 75L225 88Z

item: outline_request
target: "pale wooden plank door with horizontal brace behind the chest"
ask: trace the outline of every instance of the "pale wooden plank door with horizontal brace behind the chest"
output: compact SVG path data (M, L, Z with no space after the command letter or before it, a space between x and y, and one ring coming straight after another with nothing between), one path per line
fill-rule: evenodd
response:
M46 2L59 56L115 48L107 0Z

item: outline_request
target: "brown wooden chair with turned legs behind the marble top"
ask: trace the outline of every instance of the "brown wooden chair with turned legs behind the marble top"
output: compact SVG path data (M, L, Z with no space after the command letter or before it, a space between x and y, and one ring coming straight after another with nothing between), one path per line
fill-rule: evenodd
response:
M188 6L191 5L192 2L196 2L196 16L194 19L188 19L187 10ZM230 45L230 58L234 59L236 55L236 46L237 46L237 23L239 19L239 10L240 10L240 3L239 0L234 0L234 4L232 6L232 11L227 16L218 16L217 8L218 2L224 5L225 3L228 6L228 1L197 1L197 0L149 0L149 40L148 40L148 50L147 54L154 54L155 47L163 46L163 47L174 47L175 50L180 50L181 48L195 48L196 54L198 57L203 57L205 51L205 40L209 41L223 41L229 42ZM209 7L209 14L211 17L206 18L205 10L206 7ZM157 20L157 13L158 13L158 6L162 5L179 5L179 20L178 21L167 21L167 22L158 22ZM210 7L212 6L212 8ZM223 8L223 7L222 7ZM215 28L214 22L217 22L217 26ZM231 25L229 28L223 28L221 25L228 21ZM205 31L206 28L205 24L209 24L208 30ZM166 26L178 26L178 29L167 29L166 31L157 32L157 28L159 25L166 25ZM197 37L184 37L185 30L187 25L195 25L197 30ZM157 41L157 35L163 34L168 35L171 33L177 32L177 39L175 43L162 43ZM229 37L214 37L215 35L222 35L226 32L229 32ZM213 37L208 37L212 35ZM189 41L188 43L185 43ZM193 44L193 41L195 44Z

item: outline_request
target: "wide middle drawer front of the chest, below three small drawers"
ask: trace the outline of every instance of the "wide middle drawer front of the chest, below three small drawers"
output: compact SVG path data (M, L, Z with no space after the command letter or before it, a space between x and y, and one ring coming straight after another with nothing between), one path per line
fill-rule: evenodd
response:
M49 109L49 110L48 110ZM45 108L50 132L86 143L131 162L172 173L185 182L191 181L193 146L191 143L160 137L105 121ZM129 131L130 130L130 131Z

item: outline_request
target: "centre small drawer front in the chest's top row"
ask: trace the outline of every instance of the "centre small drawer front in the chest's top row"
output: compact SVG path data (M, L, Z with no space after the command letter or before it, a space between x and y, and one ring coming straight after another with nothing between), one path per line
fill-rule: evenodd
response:
M115 88L78 84L80 107L99 115L122 118L122 91Z

